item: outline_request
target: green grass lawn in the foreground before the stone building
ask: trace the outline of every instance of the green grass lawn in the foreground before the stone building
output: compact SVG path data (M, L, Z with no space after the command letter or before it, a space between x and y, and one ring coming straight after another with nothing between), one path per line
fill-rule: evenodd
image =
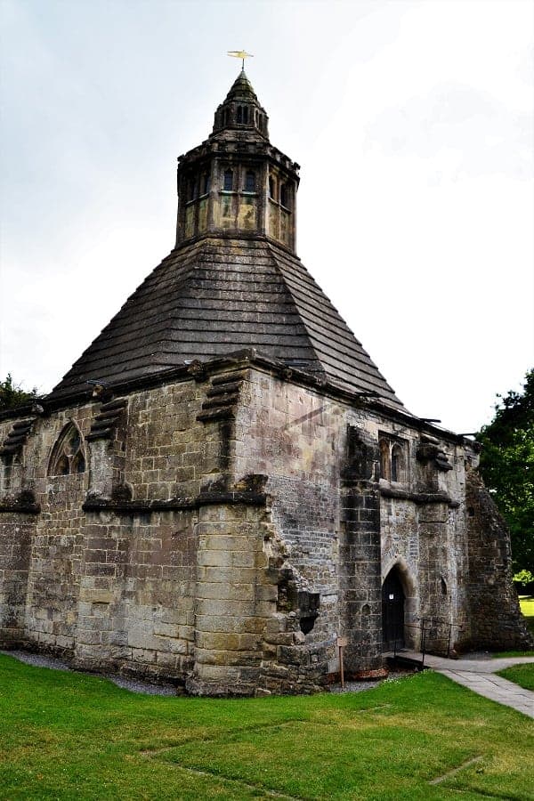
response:
M362 693L209 700L136 695L0 656L10 801L527 801L531 755L529 718L430 671Z

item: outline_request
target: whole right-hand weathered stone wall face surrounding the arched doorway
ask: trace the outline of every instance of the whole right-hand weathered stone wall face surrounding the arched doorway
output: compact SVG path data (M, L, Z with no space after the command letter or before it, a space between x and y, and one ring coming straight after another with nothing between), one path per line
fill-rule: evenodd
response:
M296 587L320 595L304 644L323 670L338 670L336 635L349 642L349 673L382 664L381 584L395 566L407 643L420 647L425 627L427 649L461 647L470 636L465 446L261 372L244 400L236 471L268 473L279 588L291 571ZM405 449L397 481L381 476L383 437Z

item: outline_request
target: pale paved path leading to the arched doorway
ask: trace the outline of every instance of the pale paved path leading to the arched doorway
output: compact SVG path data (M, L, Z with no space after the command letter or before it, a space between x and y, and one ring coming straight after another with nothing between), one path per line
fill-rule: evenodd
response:
M392 653L388 654L388 656L392 655ZM399 656L408 659L422 659L422 654L417 651L400 651ZM505 667L528 663L534 664L534 657L445 659L425 654L426 667L432 667L437 673L448 676L453 682L463 684L464 687L478 692L485 698L517 709L523 715L534 717L534 692L524 690L519 684L509 682L502 676L495 676L498 670L504 670Z

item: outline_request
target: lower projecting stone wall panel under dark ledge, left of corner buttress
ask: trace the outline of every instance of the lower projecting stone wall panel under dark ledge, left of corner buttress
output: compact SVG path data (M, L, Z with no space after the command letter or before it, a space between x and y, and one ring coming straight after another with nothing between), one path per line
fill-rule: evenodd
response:
M196 514L88 514L78 667L181 677L192 666Z

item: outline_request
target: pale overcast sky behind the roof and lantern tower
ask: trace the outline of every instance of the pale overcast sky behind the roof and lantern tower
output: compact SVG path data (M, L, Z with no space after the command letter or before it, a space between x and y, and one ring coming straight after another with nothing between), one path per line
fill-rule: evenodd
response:
M0 378L48 392L174 245L239 72L301 167L297 250L457 432L534 364L530 0L0 0Z

